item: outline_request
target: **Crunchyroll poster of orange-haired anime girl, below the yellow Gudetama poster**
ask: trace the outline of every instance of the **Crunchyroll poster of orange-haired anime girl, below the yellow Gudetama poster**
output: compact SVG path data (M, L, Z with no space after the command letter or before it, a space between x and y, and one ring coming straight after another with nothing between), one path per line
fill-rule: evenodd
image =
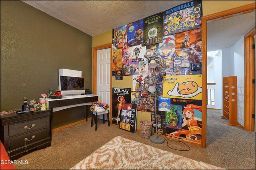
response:
M169 115L178 120L176 121L178 124L174 123L174 125L177 127L181 124L182 129L174 128L174 125L169 123L166 112L166 135L201 143L202 100L171 98L172 107L174 108L173 113ZM177 115L179 113L181 117Z

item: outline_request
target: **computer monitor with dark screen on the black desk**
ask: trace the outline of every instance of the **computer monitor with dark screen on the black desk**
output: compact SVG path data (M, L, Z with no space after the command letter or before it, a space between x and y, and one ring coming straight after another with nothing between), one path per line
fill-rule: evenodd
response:
M63 96L85 93L83 77L60 76L59 87Z

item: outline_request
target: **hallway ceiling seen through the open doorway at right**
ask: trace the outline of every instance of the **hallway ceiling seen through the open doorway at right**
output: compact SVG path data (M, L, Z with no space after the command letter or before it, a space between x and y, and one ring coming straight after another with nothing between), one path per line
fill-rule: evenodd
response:
M254 26L255 12L208 22L207 51L232 47Z

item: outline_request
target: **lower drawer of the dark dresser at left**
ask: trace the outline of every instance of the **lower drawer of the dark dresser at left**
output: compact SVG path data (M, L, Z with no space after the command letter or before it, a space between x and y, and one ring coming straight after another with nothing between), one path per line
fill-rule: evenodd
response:
M38 131L34 131L34 132L30 132L30 133L27 133L24 135L10 138L9 139L10 150L28 145L28 144L36 142L36 141L40 141L49 136L50 136L49 131L47 132L46 129L41 129ZM26 141L25 141L25 139L26 139Z

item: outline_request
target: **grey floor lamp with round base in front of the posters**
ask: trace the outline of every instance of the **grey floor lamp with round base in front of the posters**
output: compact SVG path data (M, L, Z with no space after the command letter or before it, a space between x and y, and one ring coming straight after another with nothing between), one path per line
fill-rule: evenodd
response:
M155 80L154 82L150 82L149 84L149 88L148 88L148 91L154 93L154 96L155 96L155 119L156 119L156 135L152 135L150 136L150 141L152 143L156 143L156 144L162 144L164 143L164 138L161 137L161 136L158 136L158 133L157 133L157 115L156 115L156 61L154 59L152 59L149 63L149 67L150 68L154 68L154 75L155 75Z

